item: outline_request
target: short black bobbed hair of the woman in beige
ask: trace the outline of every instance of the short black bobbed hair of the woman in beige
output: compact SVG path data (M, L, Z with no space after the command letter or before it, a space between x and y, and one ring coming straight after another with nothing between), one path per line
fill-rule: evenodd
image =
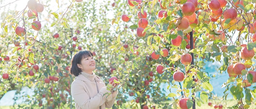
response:
M81 60L83 58L91 56L93 56L92 52L87 50L77 52L71 60L71 67L69 69L69 73L77 77L82 72L82 70L77 66L77 64L81 64Z

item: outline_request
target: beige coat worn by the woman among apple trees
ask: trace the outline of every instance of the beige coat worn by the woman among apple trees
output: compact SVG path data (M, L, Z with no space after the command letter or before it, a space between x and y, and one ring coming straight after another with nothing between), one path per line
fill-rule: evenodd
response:
M90 81L81 74L75 77L71 85L71 95L75 100L76 109L100 109L100 106L101 109L106 109L114 105L115 98L107 99L107 95L104 95L110 91L106 89L102 79L95 75L95 80L99 93L95 81Z

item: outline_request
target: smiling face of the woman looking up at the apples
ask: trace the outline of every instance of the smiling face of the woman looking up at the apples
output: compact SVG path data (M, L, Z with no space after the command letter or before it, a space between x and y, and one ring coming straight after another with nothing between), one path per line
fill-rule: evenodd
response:
M92 73L95 70L95 60L93 56L82 58L81 64L77 64L78 68L82 70L82 72Z

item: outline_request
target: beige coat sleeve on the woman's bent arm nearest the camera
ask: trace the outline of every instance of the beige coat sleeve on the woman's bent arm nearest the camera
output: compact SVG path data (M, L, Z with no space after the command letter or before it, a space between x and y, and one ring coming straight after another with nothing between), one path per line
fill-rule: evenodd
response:
M107 90L100 90L96 96L90 98L83 85L79 81L73 81L71 85L71 95L82 109L95 109L104 104L107 98L103 95Z

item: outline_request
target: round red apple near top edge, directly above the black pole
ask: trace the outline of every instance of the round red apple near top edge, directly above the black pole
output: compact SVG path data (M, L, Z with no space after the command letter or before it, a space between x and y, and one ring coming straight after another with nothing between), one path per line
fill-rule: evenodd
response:
M186 2L182 5L181 11L185 16L191 16L195 11L195 6L192 2Z

